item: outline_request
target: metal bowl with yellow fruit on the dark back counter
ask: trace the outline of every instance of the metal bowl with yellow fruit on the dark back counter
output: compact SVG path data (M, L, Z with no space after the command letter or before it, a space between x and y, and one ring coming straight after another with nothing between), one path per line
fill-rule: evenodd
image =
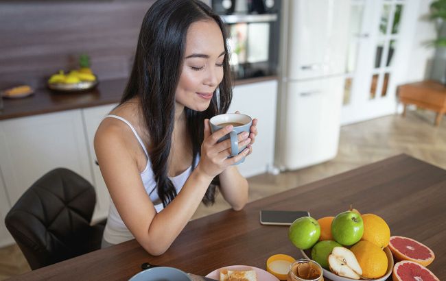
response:
M96 75L91 71L89 57L80 56L79 64L79 69L73 69L67 73L61 70L51 75L47 82L48 88L61 92L80 92L95 88L98 82Z

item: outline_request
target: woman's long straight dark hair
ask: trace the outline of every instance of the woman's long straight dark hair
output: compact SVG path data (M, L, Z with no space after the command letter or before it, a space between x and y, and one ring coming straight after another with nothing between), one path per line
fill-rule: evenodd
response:
M174 130L175 91L180 80L185 56L186 34L191 23L215 21L224 39L226 55L223 61L223 80L214 93L207 110L198 112L185 107L187 131L192 147L192 167L201 154L204 119L226 113L232 99L231 69L226 47L226 32L220 16L199 0L159 0L145 14L139 33L132 73L121 103L139 97L141 113L150 139L149 156L158 195L167 206L176 197L176 189L167 177L168 158ZM213 204L218 176L209 185L202 201Z

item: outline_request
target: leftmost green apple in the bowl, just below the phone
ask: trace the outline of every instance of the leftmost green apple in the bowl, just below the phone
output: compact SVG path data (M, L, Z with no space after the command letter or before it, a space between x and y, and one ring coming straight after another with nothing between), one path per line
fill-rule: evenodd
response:
M301 217L296 219L290 230L288 238L299 249L309 249L318 242L320 236L320 225L312 217Z

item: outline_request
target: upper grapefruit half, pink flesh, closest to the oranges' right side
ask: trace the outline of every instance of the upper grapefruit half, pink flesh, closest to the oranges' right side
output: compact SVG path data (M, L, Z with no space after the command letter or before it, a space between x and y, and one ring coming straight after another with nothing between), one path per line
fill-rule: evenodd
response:
M410 260L427 267L434 261L435 255L427 246L403 236L390 237L388 245L397 260Z

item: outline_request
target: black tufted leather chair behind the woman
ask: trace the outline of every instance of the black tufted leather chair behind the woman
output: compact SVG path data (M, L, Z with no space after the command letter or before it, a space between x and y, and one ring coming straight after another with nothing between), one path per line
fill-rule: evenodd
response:
M68 169L54 169L23 193L5 225L32 269L101 247L105 221L91 224L93 186Z

